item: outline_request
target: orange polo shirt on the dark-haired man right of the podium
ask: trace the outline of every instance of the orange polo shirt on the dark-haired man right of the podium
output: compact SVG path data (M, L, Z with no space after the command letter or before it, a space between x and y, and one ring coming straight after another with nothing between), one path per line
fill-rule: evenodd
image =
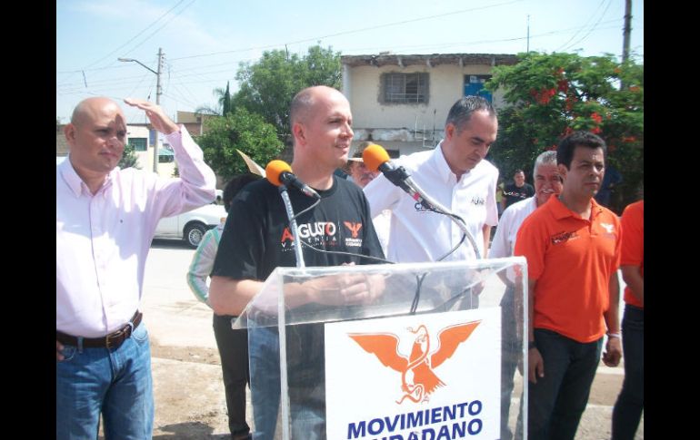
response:
M608 282L620 264L620 220L591 200L591 220L550 197L518 230L515 255L536 279L534 328L578 342L605 335Z

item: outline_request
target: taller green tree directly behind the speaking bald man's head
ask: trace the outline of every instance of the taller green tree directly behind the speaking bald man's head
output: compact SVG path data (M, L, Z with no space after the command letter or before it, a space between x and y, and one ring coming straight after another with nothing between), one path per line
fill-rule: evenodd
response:
M319 45L309 47L303 57L273 50L263 53L255 64L240 64L235 79L240 89L232 99L233 107L262 115L285 141L291 134L289 106L297 92L312 85L340 88L340 53Z

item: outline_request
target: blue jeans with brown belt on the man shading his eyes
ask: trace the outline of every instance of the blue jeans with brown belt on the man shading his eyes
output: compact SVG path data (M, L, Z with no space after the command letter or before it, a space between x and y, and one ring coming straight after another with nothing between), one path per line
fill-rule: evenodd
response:
M153 380L142 322L119 348L65 345L56 361L56 440L95 440L102 413L105 439L153 435Z

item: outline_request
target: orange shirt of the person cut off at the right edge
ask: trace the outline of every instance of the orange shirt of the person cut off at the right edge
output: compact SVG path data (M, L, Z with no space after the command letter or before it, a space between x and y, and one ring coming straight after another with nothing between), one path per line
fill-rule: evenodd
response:
M620 264L639 266L642 278L645 276L645 200L627 205L622 213L622 257ZM644 308L635 297L632 289L625 288L625 303Z

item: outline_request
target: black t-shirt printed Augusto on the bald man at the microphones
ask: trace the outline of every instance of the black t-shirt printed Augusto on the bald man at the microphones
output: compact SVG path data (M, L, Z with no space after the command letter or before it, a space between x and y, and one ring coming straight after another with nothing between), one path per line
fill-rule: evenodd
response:
M315 249L384 258L369 204L355 183L334 177L329 190L317 192L320 203L296 219L301 240ZM295 188L288 193L295 213L315 202ZM340 266L351 261L376 263L371 259L302 249L307 267ZM251 182L231 203L212 275L265 280L277 267L295 266L292 233L277 187L266 180Z

